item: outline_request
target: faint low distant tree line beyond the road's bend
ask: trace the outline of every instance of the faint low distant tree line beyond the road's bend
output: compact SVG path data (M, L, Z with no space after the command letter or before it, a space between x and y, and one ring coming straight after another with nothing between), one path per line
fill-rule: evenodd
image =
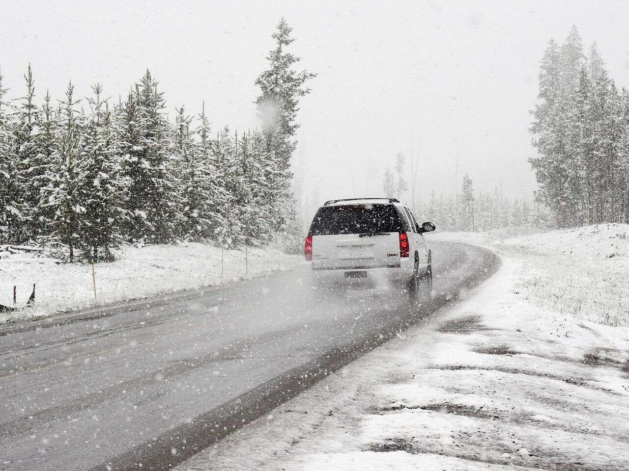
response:
M487 232L494 229L533 227L548 223L548 209L526 198L504 198L498 187L493 192L474 193L472 179L464 175L458 195L435 195L415 209L422 221L439 230Z

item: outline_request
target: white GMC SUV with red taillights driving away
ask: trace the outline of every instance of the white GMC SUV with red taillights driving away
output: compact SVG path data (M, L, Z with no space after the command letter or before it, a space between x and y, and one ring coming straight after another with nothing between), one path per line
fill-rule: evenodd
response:
M318 275L333 279L381 279L416 295L432 292L432 257L424 232L408 207L395 198L326 202L315 214L304 254Z

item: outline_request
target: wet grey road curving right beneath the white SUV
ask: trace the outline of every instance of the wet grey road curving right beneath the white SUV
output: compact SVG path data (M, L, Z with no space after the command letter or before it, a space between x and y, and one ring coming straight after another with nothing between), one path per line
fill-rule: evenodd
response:
M443 305L496 256L434 242ZM167 469L335 371L426 309L296 272L0 329L0 469Z

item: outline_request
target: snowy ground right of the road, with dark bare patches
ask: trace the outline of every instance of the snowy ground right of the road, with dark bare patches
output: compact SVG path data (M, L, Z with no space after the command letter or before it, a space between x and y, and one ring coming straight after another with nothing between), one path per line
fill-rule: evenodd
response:
M628 232L599 226L498 244L499 272L465 300L180 471L629 470L629 335L601 324L596 296L583 294L581 314L552 307L570 291L620 286ZM606 261L625 270L597 273L596 283L569 274L616 267ZM551 278L546 291L531 282ZM557 300L545 301L552 289Z

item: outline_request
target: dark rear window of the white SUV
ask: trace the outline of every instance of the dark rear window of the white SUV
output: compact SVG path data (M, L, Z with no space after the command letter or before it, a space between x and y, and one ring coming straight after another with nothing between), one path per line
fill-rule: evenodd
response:
M310 225L312 236L406 230L394 205L343 205L319 208Z

